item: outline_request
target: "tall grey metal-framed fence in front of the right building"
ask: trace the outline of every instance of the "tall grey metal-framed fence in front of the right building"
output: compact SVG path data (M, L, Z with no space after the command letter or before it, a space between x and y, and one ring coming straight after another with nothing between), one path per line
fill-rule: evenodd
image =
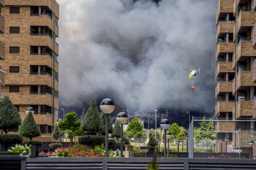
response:
M201 124L209 122L213 129L203 131ZM193 118L189 127L189 158L255 159L254 126L255 120L250 119Z

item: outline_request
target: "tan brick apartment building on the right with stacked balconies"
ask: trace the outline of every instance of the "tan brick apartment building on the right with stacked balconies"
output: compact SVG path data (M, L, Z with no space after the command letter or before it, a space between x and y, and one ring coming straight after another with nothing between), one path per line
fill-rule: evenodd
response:
M247 141L254 140L252 134L256 127L252 121L256 118L255 23L256 0L219 0L216 9L216 117L237 121L218 122L216 128L227 132L218 135L220 141L228 139L233 149L244 153L251 148ZM226 152L227 148L221 143L218 142L217 150Z

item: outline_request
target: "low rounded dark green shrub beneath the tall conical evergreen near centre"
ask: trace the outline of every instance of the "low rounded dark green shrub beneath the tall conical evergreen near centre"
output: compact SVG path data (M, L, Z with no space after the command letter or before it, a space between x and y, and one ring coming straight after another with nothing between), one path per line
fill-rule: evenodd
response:
M79 136L79 144L87 145L94 148L96 145L101 145L105 143L105 136Z

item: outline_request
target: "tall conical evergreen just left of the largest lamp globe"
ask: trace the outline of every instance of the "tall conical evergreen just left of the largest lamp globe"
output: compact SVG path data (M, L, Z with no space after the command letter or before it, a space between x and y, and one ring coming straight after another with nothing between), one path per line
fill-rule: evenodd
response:
M81 129L90 134L97 134L100 131L100 124L100 113L96 106L96 99L92 99L90 107L83 118Z

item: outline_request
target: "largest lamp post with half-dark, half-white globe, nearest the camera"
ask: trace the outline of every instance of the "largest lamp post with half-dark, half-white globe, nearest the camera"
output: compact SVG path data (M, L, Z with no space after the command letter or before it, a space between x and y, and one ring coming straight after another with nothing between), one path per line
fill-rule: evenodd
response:
M105 114L105 156L108 157L108 117L114 111L114 101L103 99L100 103L100 110Z

